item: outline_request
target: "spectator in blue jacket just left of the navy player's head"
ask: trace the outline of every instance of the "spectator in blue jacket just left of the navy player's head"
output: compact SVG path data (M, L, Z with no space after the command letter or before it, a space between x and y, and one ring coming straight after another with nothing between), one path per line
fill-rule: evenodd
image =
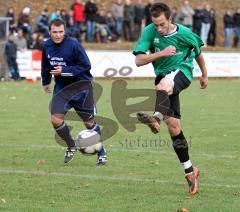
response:
M36 18L37 31L43 33L44 37L48 37L48 21L48 9L44 9Z

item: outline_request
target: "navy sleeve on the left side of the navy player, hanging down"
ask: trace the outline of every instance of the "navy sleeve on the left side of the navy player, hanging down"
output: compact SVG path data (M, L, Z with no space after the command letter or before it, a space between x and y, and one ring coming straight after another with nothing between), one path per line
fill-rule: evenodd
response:
M52 75L50 74L51 71L51 65L46 57L45 51L43 49L42 52L42 70L41 70L41 76L42 76L42 85L49 85L52 80Z

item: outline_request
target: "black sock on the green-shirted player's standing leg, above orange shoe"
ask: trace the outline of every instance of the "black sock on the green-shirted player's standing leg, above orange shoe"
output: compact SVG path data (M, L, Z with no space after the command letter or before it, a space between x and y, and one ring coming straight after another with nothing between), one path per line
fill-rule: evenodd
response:
M186 141L183 132L181 131L179 135L171 137L173 141L173 148L178 156L178 159L181 163L185 163L189 161L189 154L188 154L188 143ZM189 173L193 171L193 167L190 166L185 168L185 173Z

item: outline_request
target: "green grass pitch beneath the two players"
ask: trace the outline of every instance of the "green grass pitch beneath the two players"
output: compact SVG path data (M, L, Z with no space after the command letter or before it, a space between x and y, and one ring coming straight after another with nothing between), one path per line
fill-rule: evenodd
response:
M240 80L210 80L206 90L194 81L182 93L182 127L201 172L195 197L187 193L166 127L157 136L140 124L128 132L111 107L113 81L98 83L98 114L119 127L105 143L104 167L80 153L63 164L64 148L54 141L49 122L51 95L39 82L0 82L0 211L239 211ZM151 80L127 83L152 88ZM68 123L73 134L82 129Z

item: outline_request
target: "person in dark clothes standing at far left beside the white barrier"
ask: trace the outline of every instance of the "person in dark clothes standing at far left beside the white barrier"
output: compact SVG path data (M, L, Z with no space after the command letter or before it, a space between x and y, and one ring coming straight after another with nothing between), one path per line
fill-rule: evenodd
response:
M13 34L8 35L8 40L4 46L4 56L8 64L10 77L14 80L20 80L17 64L17 45L14 43Z

